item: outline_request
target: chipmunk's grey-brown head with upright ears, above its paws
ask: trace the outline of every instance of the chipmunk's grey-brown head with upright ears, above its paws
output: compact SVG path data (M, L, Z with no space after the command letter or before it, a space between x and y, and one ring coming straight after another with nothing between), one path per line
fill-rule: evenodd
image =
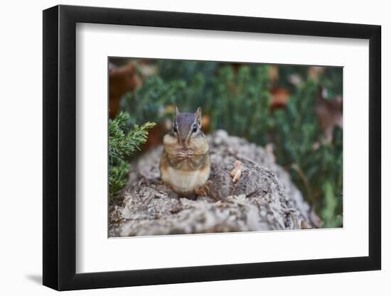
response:
M175 107L171 135L178 139L179 145L185 147L193 138L202 137L201 108L198 108L195 113L180 113L178 107Z

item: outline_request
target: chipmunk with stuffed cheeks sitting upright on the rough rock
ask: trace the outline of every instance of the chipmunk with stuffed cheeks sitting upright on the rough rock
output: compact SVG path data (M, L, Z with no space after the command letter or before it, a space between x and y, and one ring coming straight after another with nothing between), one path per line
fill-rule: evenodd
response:
M209 145L201 131L201 109L180 113L175 109L173 128L163 138L161 180L182 196L205 196L210 174Z

